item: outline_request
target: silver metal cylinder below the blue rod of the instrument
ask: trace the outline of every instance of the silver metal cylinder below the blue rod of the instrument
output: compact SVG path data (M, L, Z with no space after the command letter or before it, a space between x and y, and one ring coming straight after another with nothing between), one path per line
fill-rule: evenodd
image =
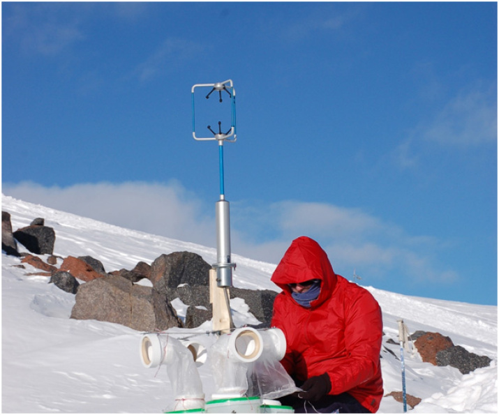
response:
M216 202L216 283L218 287L232 287L232 264L230 262L230 218L229 202Z

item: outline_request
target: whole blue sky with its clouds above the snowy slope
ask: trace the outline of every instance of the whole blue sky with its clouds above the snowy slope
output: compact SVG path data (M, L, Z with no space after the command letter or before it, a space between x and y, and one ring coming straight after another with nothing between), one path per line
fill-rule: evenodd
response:
M308 235L363 285L497 304L497 3L1 11L4 195L216 246L191 87L230 79L234 254Z

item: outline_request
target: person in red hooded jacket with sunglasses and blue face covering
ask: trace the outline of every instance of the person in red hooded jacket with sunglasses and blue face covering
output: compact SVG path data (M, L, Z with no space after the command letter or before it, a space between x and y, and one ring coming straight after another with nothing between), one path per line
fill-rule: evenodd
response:
M335 274L306 236L292 241L271 281L283 290L271 320L286 338L281 363L302 389L281 403L297 413L377 412L382 315L371 293Z

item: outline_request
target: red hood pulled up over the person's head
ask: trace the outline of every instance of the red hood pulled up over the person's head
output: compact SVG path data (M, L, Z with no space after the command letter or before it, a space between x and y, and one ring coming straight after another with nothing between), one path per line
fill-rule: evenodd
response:
M321 287L318 299L311 303L312 308L322 304L332 294L337 278L320 245L308 236L300 236L292 241L272 274L271 281L291 296L288 284L314 279L321 280Z

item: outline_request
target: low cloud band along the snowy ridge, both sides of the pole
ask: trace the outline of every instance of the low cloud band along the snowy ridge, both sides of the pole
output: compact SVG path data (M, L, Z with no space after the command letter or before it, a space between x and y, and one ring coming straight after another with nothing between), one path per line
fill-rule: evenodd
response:
M214 205L202 202L176 181L68 188L4 184L3 193L113 225L216 246ZM458 278L435 259L435 252L445 245L442 241L409 235L361 209L293 201L235 202L231 206L234 254L276 264L292 239L301 235L316 239L328 252L336 272L347 273L347 278L354 268L365 282L392 277L414 283Z

